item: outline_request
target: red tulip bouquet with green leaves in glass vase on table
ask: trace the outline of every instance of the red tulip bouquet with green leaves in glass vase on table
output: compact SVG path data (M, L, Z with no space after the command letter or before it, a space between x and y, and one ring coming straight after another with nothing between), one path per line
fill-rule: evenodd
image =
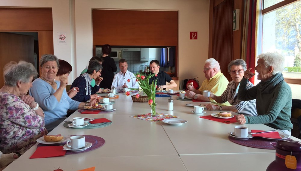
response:
M136 77L136 81L138 81L139 86L141 87L141 89L139 89L140 91L143 91L147 97L148 97L148 104L151 107L151 117L155 117L156 116L156 103L155 103L155 98L156 98L156 88L157 88L157 79L153 82L149 82L149 79L153 76L157 76L157 74L143 74L143 73L136 73L134 74ZM128 82L130 82L130 79L127 80ZM128 95L129 96L129 92ZM140 95L139 93L136 95L136 98L139 98Z

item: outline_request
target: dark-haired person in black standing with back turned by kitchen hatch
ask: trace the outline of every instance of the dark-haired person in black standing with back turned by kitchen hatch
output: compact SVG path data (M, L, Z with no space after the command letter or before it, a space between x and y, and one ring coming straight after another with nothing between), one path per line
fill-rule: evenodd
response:
M117 71L117 67L113 58L109 57L111 53L111 46L108 44L104 44L102 46L102 77L103 81L100 83L101 88L111 89L111 85L114 79L114 72Z

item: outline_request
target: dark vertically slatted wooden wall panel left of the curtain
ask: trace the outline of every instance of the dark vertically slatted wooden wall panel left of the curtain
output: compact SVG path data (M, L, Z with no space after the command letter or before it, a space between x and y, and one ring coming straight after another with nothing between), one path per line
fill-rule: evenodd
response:
M213 8L212 57L220 66L221 72L230 81L228 64L233 60L233 0L225 0Z

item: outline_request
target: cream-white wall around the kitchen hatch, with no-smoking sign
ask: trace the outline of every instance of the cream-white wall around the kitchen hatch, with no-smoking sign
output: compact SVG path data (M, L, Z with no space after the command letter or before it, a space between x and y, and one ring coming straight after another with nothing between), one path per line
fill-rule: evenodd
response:
M75 5L75 38L70 25L70 8ZM93 56L92 8L129 10L177 10L179 13L178 72L179 80L205 79L203 62L208 58L209 0L1 0L2 7L52 8L54 55L74 67L71 80L87 66ZM73 19L74 16L71 16ZM189 33L198 32L198 40L189 40ZM57 32L67 33L67 45L57 45ZM70 43L75 42L75 49Z

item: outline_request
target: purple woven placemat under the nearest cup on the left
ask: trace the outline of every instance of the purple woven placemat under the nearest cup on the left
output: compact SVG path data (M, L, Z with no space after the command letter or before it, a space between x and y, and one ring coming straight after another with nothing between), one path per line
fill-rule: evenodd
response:
M74 136L74 135L71 135L71 136ZM92 146L90 148L84 150L84 151L81 151L81 152L67 150L66 155L89 152L89 151L92 151L94 149L97 149L97 148L103 146L104 143L105 143L105 140L101 137L97 137L97 136L94 136L94 135L83 135L83 136L85 136L85 141L86 142L92 143ZM66 144L66 142L59 143L59 144L41 144L41 143L39 143L37 148L40 147L40 146L62 146L64 144Z

